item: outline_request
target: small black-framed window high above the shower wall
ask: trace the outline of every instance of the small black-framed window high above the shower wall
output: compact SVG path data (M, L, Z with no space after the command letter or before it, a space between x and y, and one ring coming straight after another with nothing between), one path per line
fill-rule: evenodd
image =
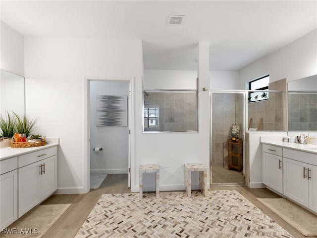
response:
M257 102L268 100L268 83L269 75L261 77L259 79L254 79L249 82L249 90L262 90L262 92L249 92L249 102Z

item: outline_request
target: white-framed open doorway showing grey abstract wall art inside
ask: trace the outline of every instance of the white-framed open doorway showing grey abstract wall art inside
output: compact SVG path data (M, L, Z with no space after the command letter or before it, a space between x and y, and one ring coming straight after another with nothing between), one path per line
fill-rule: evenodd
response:
M106 174L128 174L130 187L133 79L87 78L85 85L85 190L91 188L91 175L102 183Z

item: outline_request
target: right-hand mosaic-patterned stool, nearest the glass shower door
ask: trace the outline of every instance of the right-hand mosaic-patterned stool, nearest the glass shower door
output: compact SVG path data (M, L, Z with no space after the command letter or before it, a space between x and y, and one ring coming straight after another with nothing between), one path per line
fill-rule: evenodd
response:
M192 178L191 172L199 172L199 189L203 195L207 197L208 181L207 181L207 167L202 163L185 163L184 174L185 174L185 190L188 197L192 196Z

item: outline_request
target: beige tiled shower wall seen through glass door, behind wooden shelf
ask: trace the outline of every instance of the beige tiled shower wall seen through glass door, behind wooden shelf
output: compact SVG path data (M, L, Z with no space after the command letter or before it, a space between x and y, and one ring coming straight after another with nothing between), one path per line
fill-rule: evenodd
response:
M213 93L212 94L212 133L211 133L211 165L227 166L227 140L234 123L243 124L243 94Z

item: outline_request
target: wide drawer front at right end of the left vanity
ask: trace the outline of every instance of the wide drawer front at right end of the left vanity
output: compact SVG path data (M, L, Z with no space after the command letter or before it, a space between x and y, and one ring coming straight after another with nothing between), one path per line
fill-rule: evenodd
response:
M52 157L54 155L57 155L57 147L52 147L40 151L35 151L26 155L19 156L19 168L35 163L37 161L40 161L42 159L46 159L49 157Z

